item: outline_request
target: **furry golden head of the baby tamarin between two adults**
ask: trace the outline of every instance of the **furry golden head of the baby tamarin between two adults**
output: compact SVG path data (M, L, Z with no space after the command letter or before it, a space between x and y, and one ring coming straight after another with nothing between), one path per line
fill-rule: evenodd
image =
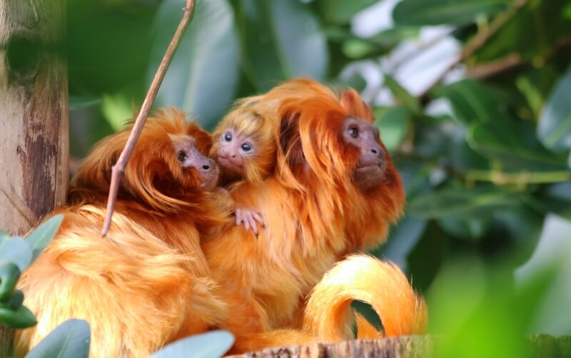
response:
M251 106L241 106L223 118L212 135L211 157L217 161L223 180L244 179L261 183L276 162L276 121Z

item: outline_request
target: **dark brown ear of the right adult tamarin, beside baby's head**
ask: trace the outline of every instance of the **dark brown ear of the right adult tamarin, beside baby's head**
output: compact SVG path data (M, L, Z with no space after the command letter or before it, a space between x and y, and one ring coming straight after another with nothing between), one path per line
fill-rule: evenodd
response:
M294 169L305 163L299 133L299 113L288 111L283 114L280 122L278 143L290 168Z

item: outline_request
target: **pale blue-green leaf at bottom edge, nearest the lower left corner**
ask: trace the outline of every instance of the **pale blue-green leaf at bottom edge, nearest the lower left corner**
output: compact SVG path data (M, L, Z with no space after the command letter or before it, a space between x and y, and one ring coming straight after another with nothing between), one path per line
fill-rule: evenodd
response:
M87 358L90 337L89 323L83 319L69 319L42 339L26 358Z

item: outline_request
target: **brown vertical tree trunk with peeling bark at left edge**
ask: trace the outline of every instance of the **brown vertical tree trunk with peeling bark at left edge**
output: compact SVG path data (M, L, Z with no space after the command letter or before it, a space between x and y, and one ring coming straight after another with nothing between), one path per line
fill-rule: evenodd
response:
M65 201L64 0L0 0L0 228L24 235ZM0 357L12 332L0 332Z

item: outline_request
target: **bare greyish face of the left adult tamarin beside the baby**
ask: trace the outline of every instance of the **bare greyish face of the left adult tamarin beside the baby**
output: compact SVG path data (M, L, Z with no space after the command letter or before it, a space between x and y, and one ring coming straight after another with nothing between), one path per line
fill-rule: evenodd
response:
M218 167L214 160L204 156L194 146L194 140L187 140L183 143L176 143L176 158L181 163L182 168L196 168L202 175L201 188L211 190L218 183Z

